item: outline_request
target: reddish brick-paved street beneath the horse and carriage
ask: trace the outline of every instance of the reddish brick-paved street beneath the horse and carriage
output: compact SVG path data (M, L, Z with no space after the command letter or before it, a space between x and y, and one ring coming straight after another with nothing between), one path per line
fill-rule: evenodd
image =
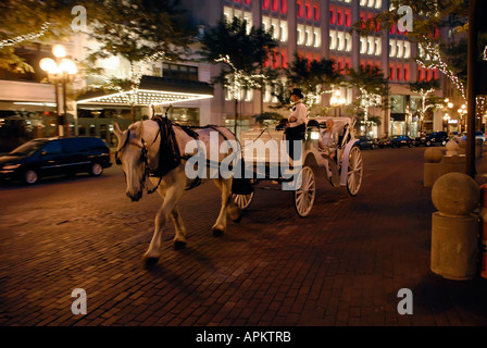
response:
M486 279L429 270L435 208L422 182L424 148L363 153L357 197L321 179L311 215L300 219L290 192L260 184L242 221L218 238L210 231L216 188L186 192L188 246L174 250L167 224L149 269L141 257L161 199L130 202L120 167L1 186L0 325L486 325ZM71 311L75 288L87 293L86 315ZM401 288L412 290L412 315L398 313Z

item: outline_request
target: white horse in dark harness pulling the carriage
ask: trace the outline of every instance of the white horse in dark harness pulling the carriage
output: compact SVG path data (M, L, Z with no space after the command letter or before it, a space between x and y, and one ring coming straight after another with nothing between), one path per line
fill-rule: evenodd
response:
M167 121L167 120L166 120ZM171 123L171 122L170 122ZM145 120L132 124L126 130L122 132L116 122L113 122L114 134L118 140L116 149L117 164L122 165L125 182L126 196L133 201L138 201L143 195L146 177L153 169L162 165L160 160L161 141L167 141L167 134L161 132L160 124L154 120ZM188 141L195 140L183 126L171 123L172 135L176 148L174 152L185 153ZM235 140L235 135L225 127L208 126L201 127L195 132L200 144L204 144L205 153L210 151L210 133L217 132L218 148L224 140ZM218 151L220 152L220 151ZM177 154L174 153L176 158ZM218 153L218 160L225 154ZM187 159L186 159L187 160ZM177 162L176 162L177 164ZM179 213L178 202L183 194L188 188L191 181L185 173L186 161L183 159L174 169L165 171L163 175L149 176L154 189L162 197L163 202L155 215L154 232L149 248L143 254L147 264L153 264L159 261L161 256L161 236L162 228L170 216L175 227L174 248L184 248L187 245L187 229ZM208 177L208 176L207 176ZM205 181L205 179L204 179ZM240 220L240 209L235 204L232 196L233 177L224 178L218 171L217 177L212 178L216 187L221 190L222 204L216 222L212 226L213 235L221 236L225 233L227 226L227 216L232 221Z

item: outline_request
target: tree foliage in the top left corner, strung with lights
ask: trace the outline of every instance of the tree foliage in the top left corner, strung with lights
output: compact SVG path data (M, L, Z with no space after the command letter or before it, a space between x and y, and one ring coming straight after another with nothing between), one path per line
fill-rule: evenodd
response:
M61 40L72 35L74 5L90 1L68 0L3 0L0 2L0 69L34 72L16 48L32 42Z

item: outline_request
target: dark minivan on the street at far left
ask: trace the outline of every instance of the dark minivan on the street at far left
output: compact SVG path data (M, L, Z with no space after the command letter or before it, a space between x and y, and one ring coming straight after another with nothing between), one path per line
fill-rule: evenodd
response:
M0 178L33 185L49 175L87 172L99 176L111 165L110 149L100 138L38 138L0 157Z

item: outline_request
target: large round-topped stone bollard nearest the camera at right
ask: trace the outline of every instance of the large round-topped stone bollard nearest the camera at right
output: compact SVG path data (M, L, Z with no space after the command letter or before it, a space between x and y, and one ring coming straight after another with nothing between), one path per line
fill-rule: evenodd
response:
M432 189L437 212L432 222L432 271L447 279L466 281L477 272L480 202L477 183L462 173L438 178Z

